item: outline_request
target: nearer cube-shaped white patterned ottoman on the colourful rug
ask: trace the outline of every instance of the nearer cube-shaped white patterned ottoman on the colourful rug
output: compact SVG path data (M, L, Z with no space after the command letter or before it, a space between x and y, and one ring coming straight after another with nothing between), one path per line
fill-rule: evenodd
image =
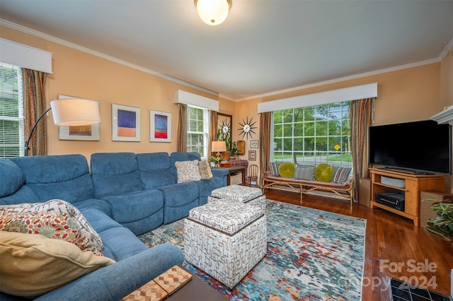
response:
M222 200L207 203L185 218L185 260L234 288L265 256L266 235L260 208Z

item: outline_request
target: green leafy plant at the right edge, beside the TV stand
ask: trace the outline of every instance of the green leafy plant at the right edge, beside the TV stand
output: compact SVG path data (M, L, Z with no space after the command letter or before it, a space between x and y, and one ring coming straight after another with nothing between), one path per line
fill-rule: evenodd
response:
M431 209L436 213L436 218L427 220L426 230L451 241L453 238L453 201L443 200L433 203Z

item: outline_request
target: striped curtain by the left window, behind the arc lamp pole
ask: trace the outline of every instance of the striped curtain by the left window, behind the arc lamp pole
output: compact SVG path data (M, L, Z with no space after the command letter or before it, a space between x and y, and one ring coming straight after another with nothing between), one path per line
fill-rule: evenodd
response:
M23 136L25 139L36 121L45 112L45 81L48 73L30 69L22 69L23 73ZM30 143L28 143L28 155L45 155L46 119L43 117L36 126Z

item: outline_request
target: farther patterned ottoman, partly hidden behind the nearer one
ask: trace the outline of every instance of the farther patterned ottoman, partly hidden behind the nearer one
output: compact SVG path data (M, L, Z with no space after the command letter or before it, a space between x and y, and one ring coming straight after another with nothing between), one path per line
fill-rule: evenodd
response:
M266 212L266 196L263 195L263 191L259 188L253 188L242 185L229 185L214 189L211 192L211 196L207 197L207 202L213 201L241 201L242 203L248 203L252 206L259 207L263 213Z

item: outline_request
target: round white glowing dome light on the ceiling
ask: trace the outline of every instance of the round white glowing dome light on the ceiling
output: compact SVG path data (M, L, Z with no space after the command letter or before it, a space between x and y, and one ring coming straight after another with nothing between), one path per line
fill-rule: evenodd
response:
M198 16L207 25L219 25L228 16L232 0L194 0Z

